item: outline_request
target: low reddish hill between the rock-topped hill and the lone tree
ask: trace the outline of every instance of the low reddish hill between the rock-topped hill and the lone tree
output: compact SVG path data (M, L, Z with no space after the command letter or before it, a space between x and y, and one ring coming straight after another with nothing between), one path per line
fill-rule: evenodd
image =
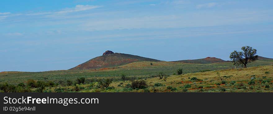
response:
M225 63L228 61L218 59L215 57L207 57L204 59L194 59L194 60L179 60L179 61L173 61L173 62L180 62L180 63L193 63L193 64L211 64L211 63Z

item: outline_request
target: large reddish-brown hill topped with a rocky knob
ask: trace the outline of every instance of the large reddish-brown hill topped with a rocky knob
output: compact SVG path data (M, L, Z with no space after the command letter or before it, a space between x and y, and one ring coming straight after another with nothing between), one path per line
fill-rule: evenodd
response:
M150 61L159 62L160 60L145 58L137 55L114 53L112 51L105 51L102 56L95 57L86 61L83 64L71 68L69 70L86 70L86 69L97 69L97 68L109 68L117 67L132 62Z

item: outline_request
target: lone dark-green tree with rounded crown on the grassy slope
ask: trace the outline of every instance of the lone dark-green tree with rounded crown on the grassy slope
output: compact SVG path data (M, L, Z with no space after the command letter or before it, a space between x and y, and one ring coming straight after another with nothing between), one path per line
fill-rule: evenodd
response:
M247 68L247 64L255 61L258 59L258 55L256 55L257 50L253 49L250 46L243 46L241 48L243 51L233 51L230 54L230 59L232 59L232 62L236 65L244 66L244 68Z

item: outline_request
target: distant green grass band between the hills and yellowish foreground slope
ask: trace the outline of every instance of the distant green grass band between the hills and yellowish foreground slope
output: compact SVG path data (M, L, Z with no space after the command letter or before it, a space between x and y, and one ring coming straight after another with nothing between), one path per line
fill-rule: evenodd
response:
M66 81L75 80L79 77L87 79L104 78L104 77L119 77L122 74L129 77L151 77L159 72L164 72L167 75L172 75L177 72L177 69L183 69L183 74L200 72L203 70L221 70L233 69L232 63L214 63L214 64L187 64L175 62L135 62L115 68L104 68L97 70L60 70L47 72L2 72L0 73L0 83L7 82L9 84L18 84L26 82L28 79L42 81ZM250 63L248 67L270 65L273 62L255 61ZM237 67L241 68L241 67Z

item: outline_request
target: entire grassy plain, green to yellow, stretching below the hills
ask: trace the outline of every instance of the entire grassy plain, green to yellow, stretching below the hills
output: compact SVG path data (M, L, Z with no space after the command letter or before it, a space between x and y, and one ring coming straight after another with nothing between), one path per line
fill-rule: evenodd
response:
M232 63L188 64L175 62L135 62L113 68L96 70L61 70L47 72L0 72L0 83L17 85L27 80L53 81L54 83L84 77L86 82L77 85L77 92L273 92L272 61L255 61L249 68L237 67ZM183 69L183 75L176 75ZM210 70L208 72L200 72ZM156 77L159 72L168 75L166 81ZM220 77L217 76L220 73ZM122 81L121 75L144 80L145 89L128 87L131 81ZM111 78L110 88L98 88L98 79ZM197 78L197 79L195 79ZM193 80L194 79L194 80ZM87 81L89 80L89 81ZM251 82L250 82L251 81ZM254 81L254 82L253 82ZM250 83L250 84L249 84ZM31 88L35 91L36 88ZM74 86L56 85L45 87L48 92L75 92Z

